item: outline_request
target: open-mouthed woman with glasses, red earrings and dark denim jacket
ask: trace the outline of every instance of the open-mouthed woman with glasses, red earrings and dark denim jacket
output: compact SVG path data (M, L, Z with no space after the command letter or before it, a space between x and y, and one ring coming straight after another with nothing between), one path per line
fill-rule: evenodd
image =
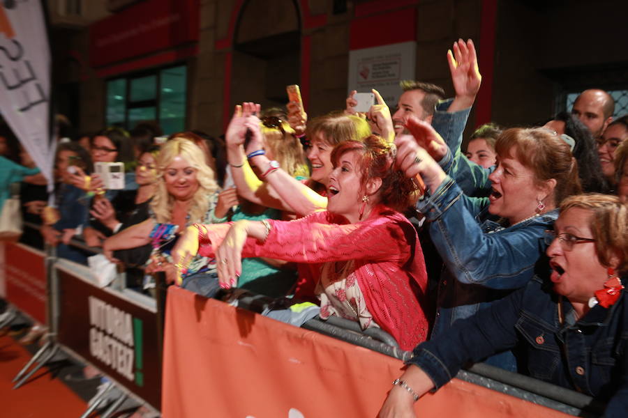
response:
M380 418L414 417L412 399L465 362L517 347L526 374L607 402L628 415L628 206L616 196L571 196L550 232L552 272L414 349Z

